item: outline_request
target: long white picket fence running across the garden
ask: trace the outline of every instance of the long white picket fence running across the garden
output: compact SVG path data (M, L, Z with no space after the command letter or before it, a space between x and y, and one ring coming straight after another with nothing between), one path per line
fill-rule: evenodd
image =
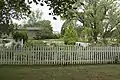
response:
M0 65L103 64L120 61L120 47L34 46L0 48Z

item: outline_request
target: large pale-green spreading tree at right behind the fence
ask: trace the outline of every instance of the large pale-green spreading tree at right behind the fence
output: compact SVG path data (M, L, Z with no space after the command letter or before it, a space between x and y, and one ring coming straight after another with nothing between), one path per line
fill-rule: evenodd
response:
M95 42L98 42L98 37L105 41L120 23L120 11L115 1L95 0L85 9L84 26L92 29Z

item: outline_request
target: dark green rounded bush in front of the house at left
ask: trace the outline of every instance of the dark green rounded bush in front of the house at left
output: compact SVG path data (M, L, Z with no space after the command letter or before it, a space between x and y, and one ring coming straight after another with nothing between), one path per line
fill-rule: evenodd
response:
M15 32L13 33L13 39L15 39L16 41L18 40L21 41L23 39L23 44L24 44L25 42L27 42L28 36L26 32Z

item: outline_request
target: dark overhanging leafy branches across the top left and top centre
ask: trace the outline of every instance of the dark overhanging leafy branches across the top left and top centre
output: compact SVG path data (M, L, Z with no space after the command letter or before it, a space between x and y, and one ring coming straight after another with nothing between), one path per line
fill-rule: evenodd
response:
M10 12L10 15L6 15L8 16L8 21L11 20L10 17L21 19L22 15L30 13L30 6L26 3L31 4L34 2L36 5L40 4L41 6L47 4L50 7L49 10L52 10L49 15L67 16L68 13L66 11L75 8L73 4L76 1L81 1L80 3L83 4L83 0L0 0L0 10L4 11L4 13L1 11L0 14L3 16L3 14Z

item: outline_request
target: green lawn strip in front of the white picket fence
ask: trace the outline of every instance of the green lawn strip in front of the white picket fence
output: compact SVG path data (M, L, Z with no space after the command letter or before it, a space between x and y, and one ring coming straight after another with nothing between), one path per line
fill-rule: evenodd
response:
M120 80L120 65L1 66L0 80Z

